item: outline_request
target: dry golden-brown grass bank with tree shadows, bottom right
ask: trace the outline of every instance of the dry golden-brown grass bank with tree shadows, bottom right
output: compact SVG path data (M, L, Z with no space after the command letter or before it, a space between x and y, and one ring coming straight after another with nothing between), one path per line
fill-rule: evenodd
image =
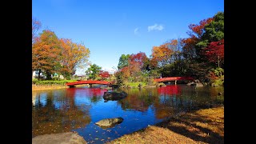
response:
M108 143L224 143L224 106L182 114Z

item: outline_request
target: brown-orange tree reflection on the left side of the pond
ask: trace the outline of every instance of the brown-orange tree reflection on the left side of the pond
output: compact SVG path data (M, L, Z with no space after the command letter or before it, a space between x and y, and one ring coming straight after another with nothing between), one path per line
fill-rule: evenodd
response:
M47 93L46 104L38 98L32 107L32 136L67 132L90 123L89 106L76 106L74 95ZM58 105L58 106L57 106Z

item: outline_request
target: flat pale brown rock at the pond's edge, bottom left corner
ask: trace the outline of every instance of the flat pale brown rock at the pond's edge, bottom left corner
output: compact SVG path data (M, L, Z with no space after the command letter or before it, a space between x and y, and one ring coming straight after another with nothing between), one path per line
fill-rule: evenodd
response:
M73 132L38 135L32 138L32 144L80 144L87 143L84 138Z

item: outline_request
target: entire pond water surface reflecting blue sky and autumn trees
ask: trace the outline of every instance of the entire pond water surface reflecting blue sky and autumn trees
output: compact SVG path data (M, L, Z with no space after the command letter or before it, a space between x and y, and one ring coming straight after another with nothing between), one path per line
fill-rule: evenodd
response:
M33 91L32 137L75 131L88 143L104 143L175 114L224 105L222 86L167 85L122 90L128 94L126 98L108 102L102 98L107 91L102 86ZM103 129L94 124L118 117L124 120L114 127Z

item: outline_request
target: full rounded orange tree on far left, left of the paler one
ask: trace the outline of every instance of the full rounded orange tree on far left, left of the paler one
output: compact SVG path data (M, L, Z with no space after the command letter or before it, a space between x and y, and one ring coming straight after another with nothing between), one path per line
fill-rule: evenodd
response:
M38 71L38 79L43 72L48 79L56 71L61 52L56 34L50 30L43 30L32 45L32 71Z

